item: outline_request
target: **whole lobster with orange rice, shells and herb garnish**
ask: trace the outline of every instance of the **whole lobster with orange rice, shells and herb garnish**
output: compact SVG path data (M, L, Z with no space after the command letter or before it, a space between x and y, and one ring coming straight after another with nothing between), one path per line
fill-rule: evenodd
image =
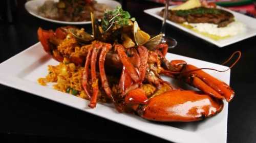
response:
M234 91L202 68L180 60L165 59L168 45L163 34L151 37L135 18L117 7L102 19L91 13L92 35L83 28L38 28L38 39L59 65L49 66L41 85L97 102L113 103L119 112L146 120L193 122L221 112ZM175 78L199 89L183 90L163 80Z

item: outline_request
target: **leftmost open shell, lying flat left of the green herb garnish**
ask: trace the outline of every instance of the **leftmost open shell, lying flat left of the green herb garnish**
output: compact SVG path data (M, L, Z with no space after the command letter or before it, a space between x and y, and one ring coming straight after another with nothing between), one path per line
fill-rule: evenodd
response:
M76 38L76 40L80 43L86 44L94 40L92 35L82 30L79 30L78 28L70 27L68 28L68 32L72 34Z

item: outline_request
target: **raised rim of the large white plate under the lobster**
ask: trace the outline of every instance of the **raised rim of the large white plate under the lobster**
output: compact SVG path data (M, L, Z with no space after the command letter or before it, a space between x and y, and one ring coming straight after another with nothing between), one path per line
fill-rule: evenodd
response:
M40 46L40 49L42 50L41 44L40 44L40 42L38 42L38 43L30 46L29 48L27 48L27 49L17 53L16 55L12 56L8 60L0 63L0 68L1 67L5 67L5 65L8 64L9 62L12 62L12 60L17 60L15 58L19 58L19 56L21 56L23 54L26 54L26 52L29 52L30 50L33 50L33 48L38 48L37 46ZM38 49L36 49L36 50L38 50ZM170 53L170 54L173 54L173 53ZM44 52L43 55L48 55L48 54ZM178 55L178 54L175 54L175 55ZM48 56L50 56L50 55L48 55ZM182 55L178 55L178 56L182 56ZM183 56L183 57L186 57L186 56ZM186 58L189 58L189 57L186 57ZM189 58L189 59L210 63L210 62L207 62L207 61L202 61L202 60L198 60L198 59L194 59L194 58ZM226 66L215 64L215 63L210 63L210 64L221 66L223 68L228 68ZM79 100L80 102L87 101L87 100L79 98L79 97L76 97L76 96L70 96L69 94L62 93L62 92L59 92L59 91L56 91L56 90L53 90L53 89L50 89L50 88L47 88L47 87L43 87L43 86L39 85L38 83L34 83L34 82L29 81L29 80L25 80L25 79L19 78L17 76L13 76L11 73L7 73L9 75L5 75L6 73L7 73L6 70L4 70L3 73L0 73L0 83L3 84L3 85L6 85L8 87L11 87L11 88L14 88L14 89L17 89L17 90L20 90L20 91L24 91L24 92L27 92L29 94L32 94L32 95L35 95L35 96L39 96L39 97L42 97L42 98L45 98L45 99L48 99L48 100L52 100L52 101L55 101L57 103L64 104L64 105L67 105L67 106L70 106L70 107L73 107L73 108L76 108L76 109L79 109L79 110L82 110L82 111L86 111L86 112L92 113L93 115L99 116L101 118L110 120L112 122L116 122L118 124L122 124L124 126L131 127L133 129L136 129L136 130L140 130L142 132L145 132L145 133L148 133L148 134L151 134L151 135L154 135L154 136L166 139L166 140L175 141L175 142L187 142L187 141L184 141L184 138L172 138L172 137L169 137L169 136L166 136L166 135L162 135L160 133L152 133L151 131L143 130L142 128L136 128L136 126L132 125L131 123L130 124L125 124L123 122L120 122L118 119L104 117L103 115L100 115L100 113L94 112L94 110L82 109L82 108L79 108L79 107L77 107L77 106L75 106L73 104L70 104L69 102L59 101L59 98L61 98L61 99L63 97L66 98L66 96L68 96L67 98L69 98L69 99L71 98L71 99L74 99L74 100ZM228 82L229 82L230 81L230 70L227 72L227 75L228 75ZM26 86L25 84L22 84L22 83L28 83L28 86ZM36 87L34 89L30 89L29 88L30 85L31 86L32 85L36 85ZM43 89L43 90L45 90L45 92L44 93L38 93L37 89L40 89L40 90ZM49 91L54 92L54 94L50 95L50 96L45 96L45 94L47 92L49 92ZM59 95L61 95L61 96L59 96ZM57 99L56 99L56 97L57 97ZM101 106L101 103L98 103L98 107L100 107L100 106ZM224 128L224 130L227 133L228 103L225 104L225 107L226 107L226 112L224 112L224 113L226 113L225 114L226 118L224 118L223 120L225 120L225 128ZM111 108L106 108L106 109L112 110ZM140 117L137 117L135 115L130 115L130 114L127 115L127 113L122 113L120 116L124 116L126 118L129 117L129 118L131 118L130 120L142 120ZM155 123L152 124L151 122L148 122L147 120L143 120L143 123L151 124L152 126L154 125L155 127L162 126L162 125L160 125L160 126L156 125ZM175 136L175 134L176 135L177 134L180 135L182 133L183 135L189 135L190 137L193 136L194 139L197 139L197 142L204 142L204 143L208 142L207 140L205 140L205 138L200 137L198 134L196 134L194 132L190 132L190 131L183 130L183 129L180 129L180 128L177 128L177 127L173 127L173 126L168 126L168 128L172 128L173 130L175 130L175 132L173 132L174 136ZM154 128L154 129L156 130L156 132L157 131L161 132L158 128ZM227 139L226 135L225 135L225 139Z

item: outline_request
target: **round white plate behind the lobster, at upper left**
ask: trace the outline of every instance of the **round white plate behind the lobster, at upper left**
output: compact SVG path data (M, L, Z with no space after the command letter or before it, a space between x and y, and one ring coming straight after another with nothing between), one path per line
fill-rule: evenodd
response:
M33 16L38 17L40 19L44 19L46 21L50 21L50 22L54 22L54 23L61 23L61 24L73 24L73 25L77 25L77 24L89 24L91 23L91 21L81 21L81 22L68 22L68 21L59 21L59 20L53 20L53 19L49 19L46 17L42 17L40 15L38 15L37 13L37 8L44 5L45 1L47 0L33 0L33 1L28 1L25 4L25 8L26 10ZM53 0L54 2L58 2L58 0ZM112 1L112 0L97 0L98 3L101 4L106 4L108 5L111 9L115 9L117 6L121 6L120 3L116 2L116 1Z

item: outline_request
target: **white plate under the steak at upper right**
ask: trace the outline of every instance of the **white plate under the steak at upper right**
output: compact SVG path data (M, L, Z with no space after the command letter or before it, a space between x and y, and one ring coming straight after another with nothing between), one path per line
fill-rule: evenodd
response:
M175 7L175 6L170 6L169 8L172 8L172 7ZM223 9L223 10L226 10L226 11L229 11L231 12L235 19L237 19L238 21L242 22L245 24L246 26L246 31L242 34L238 34L236 36L231 36L229 38L226 38L226 39L223 39L223 40L213 40L213 39L210 39L206 36L203 36L199 33L196 33L192 30L189 30L188 28L180 25L180 24L177 24L175 22L172 22L170 20L166 20L167 23L175 26L175 27L178 27L180 28L181 30L189 33L189 34L192 34L196 37L199 37L205 41L208 41L212 44L215 44L217 45L218 47L224 47L224 46L227 46L227 45L230 45L230 44L233 44L233 43L236 43L236 42L239 42L239 41L242 41L244 39L247 39L247 38L250 38L252 36L255 36L256 35L256 19L255 18L252 18L252 17L249 17L249 16L246 16L244 14L241 14L241 13L237 13L237 12L233 12L233 11L230 11L230 10L227 10L225 8L222 8L222 7L218 7L220 9ZM152 15L160 20L163 20L163 18L159 15L159 12L164 9L164 7L160 7L160 8L153 8L153 9L147 9L147 10L144 10L145 13L149 14L149 15Z

